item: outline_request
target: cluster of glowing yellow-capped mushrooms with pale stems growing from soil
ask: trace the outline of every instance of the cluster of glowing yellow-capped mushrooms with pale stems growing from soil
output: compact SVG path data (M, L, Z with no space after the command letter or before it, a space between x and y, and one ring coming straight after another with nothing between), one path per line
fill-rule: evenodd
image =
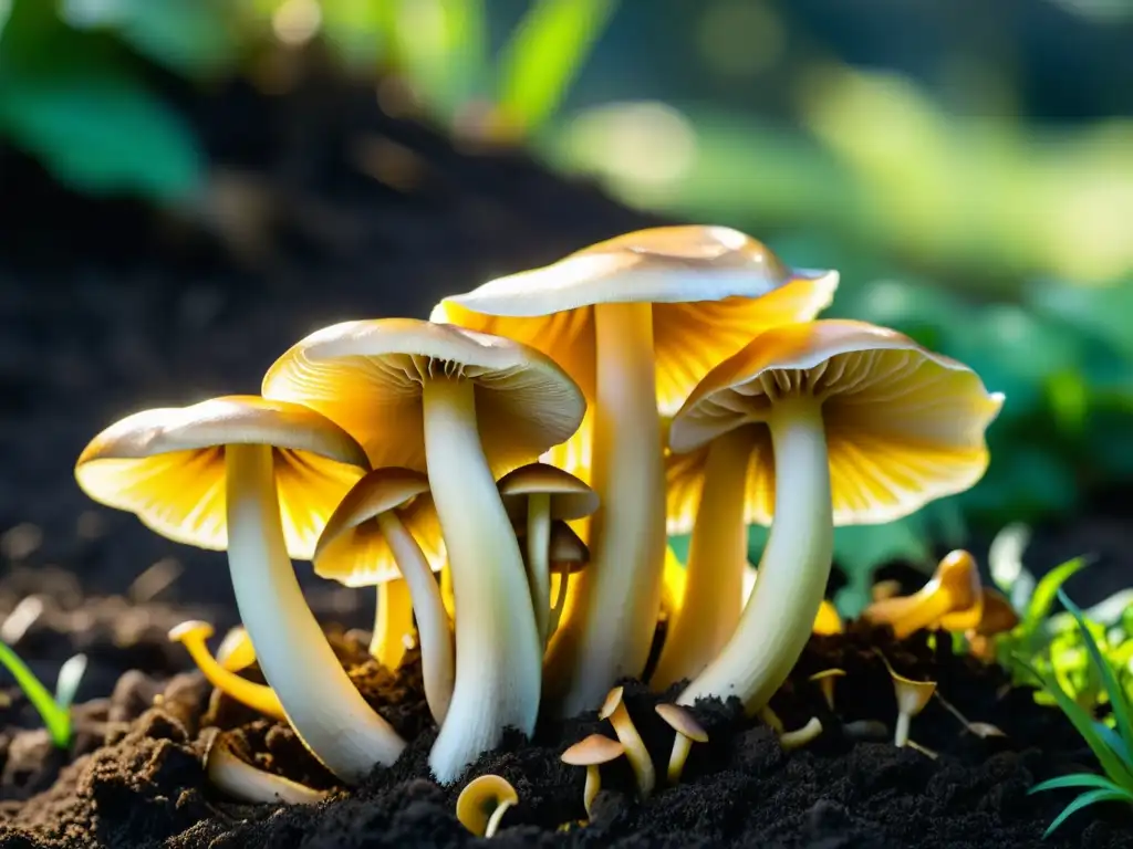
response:
M375 588L381 662L420 646L442 782L505 728L603 707L645 674L661 619L651 685L687 681L663 715L696 740L680 705L735 696L757 713L812 629L841 627L824 602L835 525L906 515L988 463L1002 396L898 333L817 320L836 285L727 228L629 233L428 320L317 331L258 395L110 426L76 478L169 539L228 551L239 657L211 657L205 624L171 637L343 782L406 741L337 660L293 559ZM752 523L772 529L755 572ZM683 573L672 533L691 533ZM240 677L252 657L266 686Z

